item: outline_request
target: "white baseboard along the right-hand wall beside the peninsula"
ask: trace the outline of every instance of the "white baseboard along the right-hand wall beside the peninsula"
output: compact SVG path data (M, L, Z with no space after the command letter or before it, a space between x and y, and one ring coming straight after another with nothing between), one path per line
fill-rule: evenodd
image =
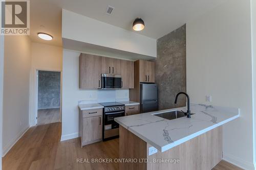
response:
M246 170L254 170L253 162L248 162L230 154L223 154L223 160Z

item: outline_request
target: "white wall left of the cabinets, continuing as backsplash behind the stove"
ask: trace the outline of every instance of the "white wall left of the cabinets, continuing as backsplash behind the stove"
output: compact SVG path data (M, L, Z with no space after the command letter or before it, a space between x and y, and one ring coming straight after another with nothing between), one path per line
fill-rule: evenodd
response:
M79 90L79 55L63 50L61 140L78 137L78 101L129 100L129 90Z

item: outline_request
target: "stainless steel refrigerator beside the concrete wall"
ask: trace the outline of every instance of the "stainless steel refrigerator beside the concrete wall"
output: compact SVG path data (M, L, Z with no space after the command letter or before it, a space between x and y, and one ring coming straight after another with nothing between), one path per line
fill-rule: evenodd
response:
M140 113L146 113L157 110L157 85L140 83Z

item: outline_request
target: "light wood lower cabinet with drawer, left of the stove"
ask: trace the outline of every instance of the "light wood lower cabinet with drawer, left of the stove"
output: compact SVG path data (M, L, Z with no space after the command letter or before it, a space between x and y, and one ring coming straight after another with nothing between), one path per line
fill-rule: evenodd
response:
M102 140L102 109L79 110L81 147Z

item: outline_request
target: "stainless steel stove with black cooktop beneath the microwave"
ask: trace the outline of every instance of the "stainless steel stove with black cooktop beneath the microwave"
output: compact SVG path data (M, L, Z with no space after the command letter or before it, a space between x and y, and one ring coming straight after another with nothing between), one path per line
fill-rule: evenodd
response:
M102 139L108 140L119 136L119 124L115 122L115 117L124 116L124 104L118 102L99 103L104 106Z

